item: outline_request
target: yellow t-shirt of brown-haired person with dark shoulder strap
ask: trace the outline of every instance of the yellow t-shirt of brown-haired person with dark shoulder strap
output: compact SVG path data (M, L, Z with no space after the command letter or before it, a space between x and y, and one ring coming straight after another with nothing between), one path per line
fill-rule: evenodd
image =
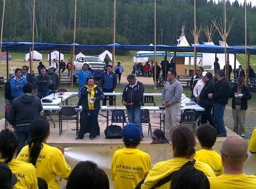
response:
M162 178L170 175L174 171L179 170L186 162L189 160L186 158L174 158L167 161L158 162L155 166L149 171L144 184L142 184L141 189L151 189L155 184ZM195 162L194 167L202 171L206 176L215 177L215 174L211 167L203 162ZM156 189L170 189L170 182L157 187Z

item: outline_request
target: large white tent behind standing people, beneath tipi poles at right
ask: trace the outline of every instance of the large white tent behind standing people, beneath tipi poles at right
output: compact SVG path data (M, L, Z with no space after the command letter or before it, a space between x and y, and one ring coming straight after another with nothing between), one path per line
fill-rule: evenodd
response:
M204 42L204 44L214 45L213 42ZM224 46L223 41L220 41L220 46ZM225 65L225 54L217 54L217 58L219 59L220 69L223 69ZM211 69L214 69L214 61L215 53L203 53L203 66L211 66ZM233 54L229 54L229 64L232 66L232 69L234 69L234 61L235 56ZM238 68L239 65L241 64L236 59L236 68Z

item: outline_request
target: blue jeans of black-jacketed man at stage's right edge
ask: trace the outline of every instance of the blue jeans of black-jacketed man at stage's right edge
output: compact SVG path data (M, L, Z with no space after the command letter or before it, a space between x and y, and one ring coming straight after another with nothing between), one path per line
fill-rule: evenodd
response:
M225 129L225 124L224 124L224 110L225 110L225 105L224 104L219 104L219 103L214 103L214 125L217 128L217 134L227 134L226 129Z

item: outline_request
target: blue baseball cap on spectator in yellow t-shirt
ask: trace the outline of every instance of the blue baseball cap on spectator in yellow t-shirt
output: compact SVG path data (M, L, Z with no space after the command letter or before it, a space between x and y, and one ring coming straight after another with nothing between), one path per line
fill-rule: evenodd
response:
M129 123L122 130L123 140L126 141L140 141L141 135L141 129L136 123Z

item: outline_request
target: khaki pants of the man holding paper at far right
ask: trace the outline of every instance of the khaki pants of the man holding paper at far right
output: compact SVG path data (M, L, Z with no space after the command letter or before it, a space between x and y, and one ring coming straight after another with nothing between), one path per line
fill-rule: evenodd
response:
M234 131L237 134L244 134L246 110L241 110L241 106L236 105L236 108L232 109L232 115L234 120Z

